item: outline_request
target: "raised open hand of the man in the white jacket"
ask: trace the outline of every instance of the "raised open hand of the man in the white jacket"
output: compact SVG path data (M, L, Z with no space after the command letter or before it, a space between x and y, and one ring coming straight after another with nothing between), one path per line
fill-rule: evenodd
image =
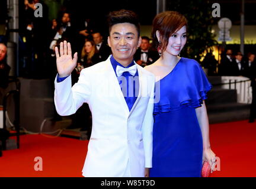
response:
M60 54L57 47L55 47L57 72L60 77L69 76L76 67L78 54L75 53L72 59L71 44L66 41L60 43Z

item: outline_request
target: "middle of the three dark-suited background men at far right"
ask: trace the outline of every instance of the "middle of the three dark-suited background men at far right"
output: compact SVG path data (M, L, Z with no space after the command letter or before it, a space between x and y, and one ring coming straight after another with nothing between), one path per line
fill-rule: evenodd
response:
M241 52L235 54L235 59L232 61L231 76L245 76L245 61L242 59Z

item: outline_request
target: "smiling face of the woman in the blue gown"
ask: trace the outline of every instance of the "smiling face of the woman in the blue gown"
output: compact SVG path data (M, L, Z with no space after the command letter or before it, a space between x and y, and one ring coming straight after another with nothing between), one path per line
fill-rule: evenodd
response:
M172 54L177 56L183 49L185 43L187 42L187 27L184 25L180 30L175 31L171 37L169 37L168 45L164 53Z

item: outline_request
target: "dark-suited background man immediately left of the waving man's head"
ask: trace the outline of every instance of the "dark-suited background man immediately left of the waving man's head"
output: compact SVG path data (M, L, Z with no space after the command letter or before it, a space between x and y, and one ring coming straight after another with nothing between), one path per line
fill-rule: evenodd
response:
M98 31L92 32L92 38L94 40L97 48L96 50L100 58L99 62L107 60L108 56L110 56L111 54L111 48L108 47L106 43L104 43L101 33Z

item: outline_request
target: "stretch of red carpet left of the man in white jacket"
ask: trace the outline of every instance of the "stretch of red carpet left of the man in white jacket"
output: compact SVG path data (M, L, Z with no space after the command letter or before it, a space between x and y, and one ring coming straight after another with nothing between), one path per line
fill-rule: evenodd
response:
M82 177L88 141L22 135L20 149L3 151L0 177ZM43 159L43 171L34 171L35 157Z

